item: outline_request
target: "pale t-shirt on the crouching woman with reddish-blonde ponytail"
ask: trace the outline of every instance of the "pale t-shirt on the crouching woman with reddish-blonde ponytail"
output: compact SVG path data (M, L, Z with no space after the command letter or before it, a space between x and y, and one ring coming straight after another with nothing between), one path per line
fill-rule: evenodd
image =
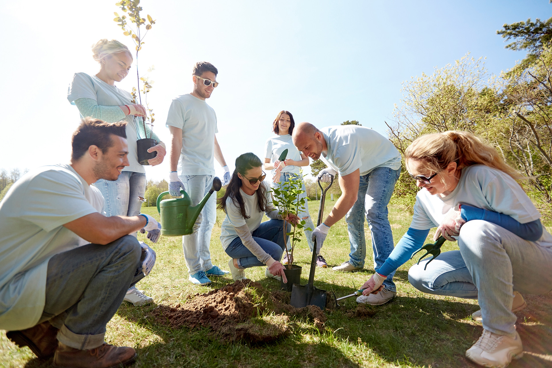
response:
M512 177L501 170L477 164L462 169L457 187L445 197L421 189L416 195L410 227L427 230L439 226L445 214L457 204L508 215L520 223L540 218L539 211ZM536 242L552 247L552 236L543 226L543 236Z

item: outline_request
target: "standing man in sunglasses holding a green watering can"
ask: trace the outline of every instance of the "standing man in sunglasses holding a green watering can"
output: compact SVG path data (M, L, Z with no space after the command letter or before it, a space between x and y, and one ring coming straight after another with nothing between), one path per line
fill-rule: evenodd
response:
M224 169L222 185L230 182L230 170L216 141L215 110L205 102L219 85L216 81L218 73L211 63L196 63L192 71L194 90L175 98L167 115L167 127L172 138L169 192L172 196L180 196L181 189L187 191L194 206L211 189L215 177L215 158ZM195 221L194 232L182 237L190 275L188 279L197 285L211 284L208 276L229 273L211 263L209 244L215 221L216 196L211 196Z

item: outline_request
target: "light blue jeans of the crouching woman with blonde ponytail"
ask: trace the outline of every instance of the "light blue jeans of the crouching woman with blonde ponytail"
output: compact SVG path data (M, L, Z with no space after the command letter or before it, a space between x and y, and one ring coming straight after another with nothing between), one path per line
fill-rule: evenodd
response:
M408 281L429 294L477 298L483 328L513 337L513 292L546 294L552 290L552 248L523 240L483 220L460 229L460 250L439 254L408 270Z

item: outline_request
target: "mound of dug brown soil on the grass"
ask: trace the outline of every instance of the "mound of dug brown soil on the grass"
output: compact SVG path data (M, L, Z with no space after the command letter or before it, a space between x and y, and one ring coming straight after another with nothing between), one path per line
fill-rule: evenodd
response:
M222 340L262 343L288 335L290 316L308 319L320 330L326 322L319 307L295 308L289 305L289 294L264 290L248 279L188 298L192 300L183 305L158 306L157 323L171 328L210 327Z

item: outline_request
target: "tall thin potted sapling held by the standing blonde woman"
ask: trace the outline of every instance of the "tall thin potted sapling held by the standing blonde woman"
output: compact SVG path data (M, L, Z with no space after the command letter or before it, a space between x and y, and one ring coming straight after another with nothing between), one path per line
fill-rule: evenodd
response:
M147 152L147 150L153 146L156 146L157 142L155 139L152 138L152 132L153 132L153 121L155 121L155 114L153 114L153 110L150 108L150 106L147 103L147 93L150 92L150 89L152 88L151 84L153 81L149 79L146 76L140 77L140 72L138 69L138 56L140 50L142 50L142 45L144 45L144 38L146 37L148 31L152 28L153 24L155 24L155 20L151 18L151 16L148 14L147 19L142 18L140 15L140 12L142 11L142 7L140 6L140 0L121 0L118 3L115 3L116 6L118 6L126 15L119 16L118 13L115 14L115 19L113 19L115 22L119 23L118 25L123 29L123 34L125 36L130 36L132 38L132 41L134 41L136 45L136 81L137 81L137 87L132 87L132 103L140 103L140 105L144 105L146 108L146 118L134 118L135 124L136 119L139 120L139 124L142 125L142 129L144 129L144 137L141 137L140 130L136 126L136 135L138 136L138 140L136 141L136 148L138 152L138 162L142 165L149 165L148 159L154 158L156 156L156 152ZM135 28L132 29L130 24L127 20L130 20L131 24L135 25ZM147 24L146 24L147 22ZM143 32L145 28L145 32ZM148 72L151 72L153 70L153 66L148 68ZM140 84L142 87L140 88ZM144 95L144 103L142 103L142 94Z

